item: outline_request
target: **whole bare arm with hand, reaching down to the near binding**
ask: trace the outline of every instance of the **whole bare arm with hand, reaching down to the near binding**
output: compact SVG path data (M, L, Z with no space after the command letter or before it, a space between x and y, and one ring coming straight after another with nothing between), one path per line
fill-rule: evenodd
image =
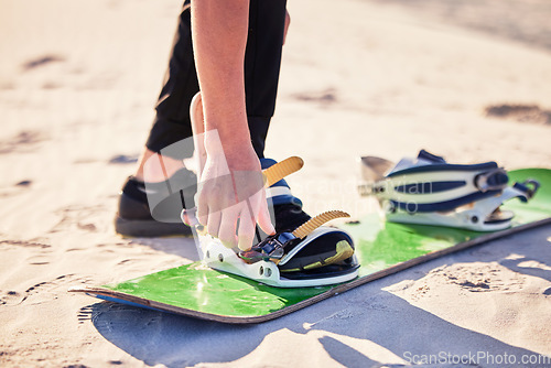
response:
M274 231L247 123L244 58L248 8L248 0L192 1L192 37L206 131L197 216L210 235L240 249L252 245L257 221L264 232Z

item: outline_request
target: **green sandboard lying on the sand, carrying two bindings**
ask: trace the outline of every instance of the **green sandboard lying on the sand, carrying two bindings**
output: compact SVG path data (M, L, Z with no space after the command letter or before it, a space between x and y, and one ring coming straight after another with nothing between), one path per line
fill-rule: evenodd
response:
M511 234L551 224L551 170L510 171L510 181L538 180L539 192L528 203L510 201L504 208L516 216L511 228L476 232L426 225L385 223L378 214L342 226L356 245L358 278L337 285L281 289L216 271L201 262L181 266L121 283L74 286L106 301L233 324L270 321L367 282L429 260ZM358 199L361 201L361 199Z

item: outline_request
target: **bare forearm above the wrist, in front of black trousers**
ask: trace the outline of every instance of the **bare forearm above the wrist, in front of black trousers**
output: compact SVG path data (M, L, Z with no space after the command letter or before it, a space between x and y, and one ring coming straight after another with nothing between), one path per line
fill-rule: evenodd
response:
M249 0L192 1L192 34L205 128L216 129L226 154L250 144L244 58ZM206 147L208 151L208 147Z

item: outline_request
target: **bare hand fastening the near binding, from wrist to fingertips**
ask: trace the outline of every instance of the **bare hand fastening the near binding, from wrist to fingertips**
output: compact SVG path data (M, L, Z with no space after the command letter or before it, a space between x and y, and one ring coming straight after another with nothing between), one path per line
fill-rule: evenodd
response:
M219 141L218 141L219 142ZM259 160L251 147L226 154L222 148L205 142L207 160L201 175L197 219L207 232L228 248L248 250L256 235L256 224L266 234L276 230L263 188Z

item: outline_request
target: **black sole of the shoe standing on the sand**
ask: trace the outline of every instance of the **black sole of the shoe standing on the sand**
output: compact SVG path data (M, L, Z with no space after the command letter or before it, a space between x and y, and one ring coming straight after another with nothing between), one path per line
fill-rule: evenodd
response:
M183 223L159 223L151 220L115 218L115 231L122 236L156 238L170 236L192 236L192 228Z

